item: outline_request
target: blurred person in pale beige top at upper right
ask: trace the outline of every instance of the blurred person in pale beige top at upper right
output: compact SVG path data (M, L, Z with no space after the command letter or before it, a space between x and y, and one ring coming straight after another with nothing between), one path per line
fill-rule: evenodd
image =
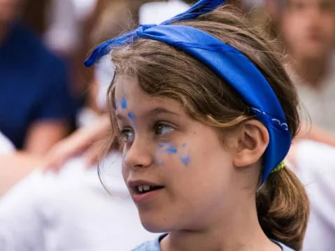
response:
M300 137L335 146L335 1L267 0L274 31L288 53L288 72L312 127Z

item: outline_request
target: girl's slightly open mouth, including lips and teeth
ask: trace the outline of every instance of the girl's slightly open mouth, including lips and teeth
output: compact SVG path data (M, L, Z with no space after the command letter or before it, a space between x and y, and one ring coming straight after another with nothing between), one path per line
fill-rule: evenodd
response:
M139 204L152 199L158 192L163 190L165 186L149 181L129 181L128 188L131 190L133 201Z

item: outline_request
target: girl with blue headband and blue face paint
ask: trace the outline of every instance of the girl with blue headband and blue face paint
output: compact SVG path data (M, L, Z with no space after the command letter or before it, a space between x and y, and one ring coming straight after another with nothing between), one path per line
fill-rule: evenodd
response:
M142 225L168 232L135 250L301 249L308 199L282 162L295 89L258 31L215 10L223 2L140 26L86 61L113 49L111 146L124 149Z

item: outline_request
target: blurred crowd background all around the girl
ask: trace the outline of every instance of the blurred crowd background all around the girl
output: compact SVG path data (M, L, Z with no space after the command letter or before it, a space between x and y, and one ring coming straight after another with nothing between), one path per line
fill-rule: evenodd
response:
M0 250L107 250L111 238L114 250L127 250L150 236L128 200L134 217L116 231L124 207L96 176L114 68L108 57L89 69L83 61L104 40L193 2L0 0ZM335 1L228 2L283 55L301 100L288 160L312 204L304 250L334 250ZM111 158L105 165L117 165ZM127 231L139 233L133 242Z

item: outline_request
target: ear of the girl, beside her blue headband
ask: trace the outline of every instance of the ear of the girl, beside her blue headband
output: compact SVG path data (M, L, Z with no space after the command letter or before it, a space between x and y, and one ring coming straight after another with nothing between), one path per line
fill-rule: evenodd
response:
M234 166L244 167L260 160L269 144L269 132L260 121L251 119L244 123L236 139Z

